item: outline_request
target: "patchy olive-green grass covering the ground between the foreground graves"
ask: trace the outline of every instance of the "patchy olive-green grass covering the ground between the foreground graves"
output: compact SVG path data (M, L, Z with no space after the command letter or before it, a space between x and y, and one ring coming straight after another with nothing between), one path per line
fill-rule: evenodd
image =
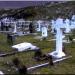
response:
M38 34L40 35L40 34ZM36 35L26 35L26 36L18 36L14 42L14 44L22 43L22 42L30 42L33 45L38 46L43 54L50 53L55 49L55 41L48 41L53 36L50 34L46 40L34 39ZM6 34L0 33L0 53L1 52L12 52L12 45L7 44ZM72 55L71 58L63 60L62 62L55 63L54 66L45 66L41 68L37 68L35 70L29 71L29 74L75 74L75 42L65 44L65 50L67 55ZM48 61L35 61L33 59L34 51L24 51L20 53L16 53L15 55L10 55L6 57L0 57L0 70L5 74L18 74L15 69L8 66L7 62L12 62L12 59L18 57L22 64L27 67L34 66L36 64L45 63Z

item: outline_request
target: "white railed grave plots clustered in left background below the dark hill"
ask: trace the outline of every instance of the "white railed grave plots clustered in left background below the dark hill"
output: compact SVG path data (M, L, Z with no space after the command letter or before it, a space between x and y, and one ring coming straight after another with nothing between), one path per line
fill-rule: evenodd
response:
M30 33L33 31L32 21L27 21L24 19L14 19L11 17L4 17L0 20L0 32L1 31L11 31L12 33L25 32L25 28L28 27Z

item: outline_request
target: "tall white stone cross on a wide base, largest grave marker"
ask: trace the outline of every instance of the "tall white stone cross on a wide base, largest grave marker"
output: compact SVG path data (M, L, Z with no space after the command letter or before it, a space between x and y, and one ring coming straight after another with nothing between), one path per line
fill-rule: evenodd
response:
M54 58L62 58L63 56L65 56L65 53L62 50L63 32L61 28L64 28L63 19L58 18L56 20L56 27L55 27L56 29L56 50L49 54L49 55L52 55Z

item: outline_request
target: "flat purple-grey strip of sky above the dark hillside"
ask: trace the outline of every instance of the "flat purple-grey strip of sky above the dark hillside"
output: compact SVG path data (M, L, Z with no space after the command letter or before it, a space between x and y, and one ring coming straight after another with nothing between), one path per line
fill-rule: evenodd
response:
M22 8L27 6L44 5L48 1L0 1L0 8Z

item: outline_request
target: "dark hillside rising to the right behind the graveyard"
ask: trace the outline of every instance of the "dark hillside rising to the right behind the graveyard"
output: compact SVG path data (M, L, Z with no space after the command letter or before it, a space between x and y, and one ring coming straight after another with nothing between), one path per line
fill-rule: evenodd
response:
M53 16L57 16L59 13L62 15L75 14L75 1L65 1L65 2L48 2L42 6L30 6L18 9L1 9L0 16L7 14L15 18L24 19L51 19Z

